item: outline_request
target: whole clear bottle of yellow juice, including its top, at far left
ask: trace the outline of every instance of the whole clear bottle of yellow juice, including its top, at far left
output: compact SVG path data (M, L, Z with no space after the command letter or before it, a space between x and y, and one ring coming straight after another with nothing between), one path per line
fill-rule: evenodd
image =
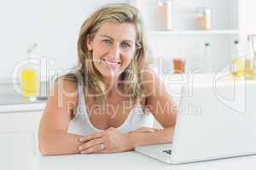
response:
M20 85L22 94L30 100L36 99L39 89L38 71L34 64L35 59L38 57L36 52L37 47L38 44L34 43L31 47L27 48L27 64L22 68L20 73Z

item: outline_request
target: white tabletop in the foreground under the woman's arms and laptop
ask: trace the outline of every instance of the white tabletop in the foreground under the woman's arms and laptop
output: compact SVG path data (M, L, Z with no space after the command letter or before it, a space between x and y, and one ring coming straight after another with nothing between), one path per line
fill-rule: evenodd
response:
M117 154L90 154L70 156L33 156L28 159L26 169L73 170L73 169L122 169L122 170L241 170L256 167L256 156L241 156L216 161L202 161L181 165L169 165L143 156L135 151Z

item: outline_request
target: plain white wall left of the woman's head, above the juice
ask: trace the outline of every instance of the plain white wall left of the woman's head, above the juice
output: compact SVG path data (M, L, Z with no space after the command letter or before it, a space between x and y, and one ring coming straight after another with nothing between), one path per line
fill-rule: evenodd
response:
M39 54L55 59L56 68L76 64L76 41L84 19L104 3L128 0L9 0L0 2L0 79L26 58L26 48L38 42Z

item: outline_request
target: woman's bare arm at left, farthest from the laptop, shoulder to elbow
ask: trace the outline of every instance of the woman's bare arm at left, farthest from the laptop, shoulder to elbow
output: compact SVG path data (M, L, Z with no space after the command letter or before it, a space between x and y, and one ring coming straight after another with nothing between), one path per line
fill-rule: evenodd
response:
M79 153L79 135L67 133L73 108L78 104L76 83L64 79L55 82L41 118L39 149L43 156Z

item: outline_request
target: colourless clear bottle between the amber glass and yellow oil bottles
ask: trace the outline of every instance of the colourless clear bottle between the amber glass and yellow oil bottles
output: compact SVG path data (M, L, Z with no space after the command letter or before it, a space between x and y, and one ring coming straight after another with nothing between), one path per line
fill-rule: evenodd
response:
M212 58L210 56L210 42L205 42L205 51L202 59L202 71L211 72L212 71Z

